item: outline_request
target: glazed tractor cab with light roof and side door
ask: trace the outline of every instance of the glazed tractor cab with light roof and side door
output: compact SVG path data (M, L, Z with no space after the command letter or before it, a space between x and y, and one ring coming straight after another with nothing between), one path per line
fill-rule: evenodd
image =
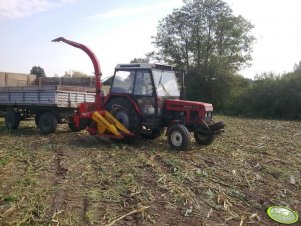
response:
M178 99L179 87L171 66L119 64L115 68L110 95L128 95L145 116L162 114L165 99Z

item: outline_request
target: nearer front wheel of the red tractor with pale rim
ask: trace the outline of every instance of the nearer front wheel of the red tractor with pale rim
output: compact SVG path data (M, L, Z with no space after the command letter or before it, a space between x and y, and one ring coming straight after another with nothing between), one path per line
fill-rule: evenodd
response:
M181 124L174 124L168 128L167 140L172 150L185 151L190 146L189 131Z

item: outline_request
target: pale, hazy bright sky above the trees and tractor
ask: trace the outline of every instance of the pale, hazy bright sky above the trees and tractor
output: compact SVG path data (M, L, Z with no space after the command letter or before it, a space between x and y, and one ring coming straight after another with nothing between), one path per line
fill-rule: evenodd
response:
M293 70L301 60L300 0L225 0L235 15L255 28L252 66L244 77ZM88 56L52 39L87 45L99 59L103 77L119 63L154 49L159 20L182 0L0 0L0 71L29 73L34 65L47 76L65 71L93 74Z

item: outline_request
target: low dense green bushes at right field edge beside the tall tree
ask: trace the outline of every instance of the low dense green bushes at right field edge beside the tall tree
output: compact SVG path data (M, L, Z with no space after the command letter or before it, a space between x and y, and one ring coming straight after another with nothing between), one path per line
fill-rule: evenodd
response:
M237 114L301 119L301 71L284 74L264 73L237 98Z

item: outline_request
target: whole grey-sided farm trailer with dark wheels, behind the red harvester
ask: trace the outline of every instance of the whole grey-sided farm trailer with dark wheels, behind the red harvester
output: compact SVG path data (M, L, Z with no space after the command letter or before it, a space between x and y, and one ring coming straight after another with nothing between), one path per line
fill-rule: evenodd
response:
M43 134L54 133L57 125L68 123L73 131L73 115L81 103L95 101L95 88L67 85L0 87L0 116L7 129L16 130L22 120L34 118Z

